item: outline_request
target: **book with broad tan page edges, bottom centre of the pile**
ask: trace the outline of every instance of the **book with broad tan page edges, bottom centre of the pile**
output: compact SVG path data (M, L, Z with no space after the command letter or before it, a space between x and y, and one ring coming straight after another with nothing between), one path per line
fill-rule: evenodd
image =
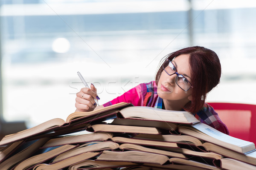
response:
M96 161L128 161L133 163L164 164L169 160L168 156L142 152L137 150L110 151L104 150Z

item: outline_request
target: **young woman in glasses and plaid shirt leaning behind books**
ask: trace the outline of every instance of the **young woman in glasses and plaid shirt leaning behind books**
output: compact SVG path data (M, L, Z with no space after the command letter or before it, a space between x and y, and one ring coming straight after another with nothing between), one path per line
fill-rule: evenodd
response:
M173 111L189 111L215 129L229 134L214 109L205 103L206 95L221 77L221 64L217 54L207 48L194 46L183 48L166 56L157 71L155 81L142 83L121 96L101 106L96 88L82 88L76 94L76 111L92 111L119 102L134 106L149 106Z

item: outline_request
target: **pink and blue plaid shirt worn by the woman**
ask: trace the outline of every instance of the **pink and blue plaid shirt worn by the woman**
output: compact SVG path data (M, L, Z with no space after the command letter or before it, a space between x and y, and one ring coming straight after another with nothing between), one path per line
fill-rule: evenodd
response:
M116 99L105 103L103 106L106 107L119 102L132 103L134 106L148 106L160 109L163 106L163 99L157 95L157 85L155 81L137 85L135 88L125 92ZM203 108L195 113L194 116L202 123L205 123L222 133L229 134L227 126L221 121L218 113L216 113L207 103L205 103Z

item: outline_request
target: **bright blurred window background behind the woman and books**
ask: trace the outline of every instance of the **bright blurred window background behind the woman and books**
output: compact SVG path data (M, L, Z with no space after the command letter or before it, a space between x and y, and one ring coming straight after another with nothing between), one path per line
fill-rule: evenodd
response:
M6 123L66 119L84 87L77 71L102 105L154 80L166 54L192 45L221 60L208 102L256 104L254 0L0 2L2 131Z

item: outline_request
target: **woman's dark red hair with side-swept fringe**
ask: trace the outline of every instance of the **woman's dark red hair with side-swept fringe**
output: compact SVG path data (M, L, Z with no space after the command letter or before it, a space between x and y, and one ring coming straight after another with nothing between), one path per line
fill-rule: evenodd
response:
M220 82L221 63L214 51L200 46L183 48L164 58L172 61L181 54L189 54L191 84L193 86L189 89L192 90L192 100L184 106L184 110L196 113L203 107L207 93ZM162 65L163 63L160 64L155 77L157 84L163 72Z

